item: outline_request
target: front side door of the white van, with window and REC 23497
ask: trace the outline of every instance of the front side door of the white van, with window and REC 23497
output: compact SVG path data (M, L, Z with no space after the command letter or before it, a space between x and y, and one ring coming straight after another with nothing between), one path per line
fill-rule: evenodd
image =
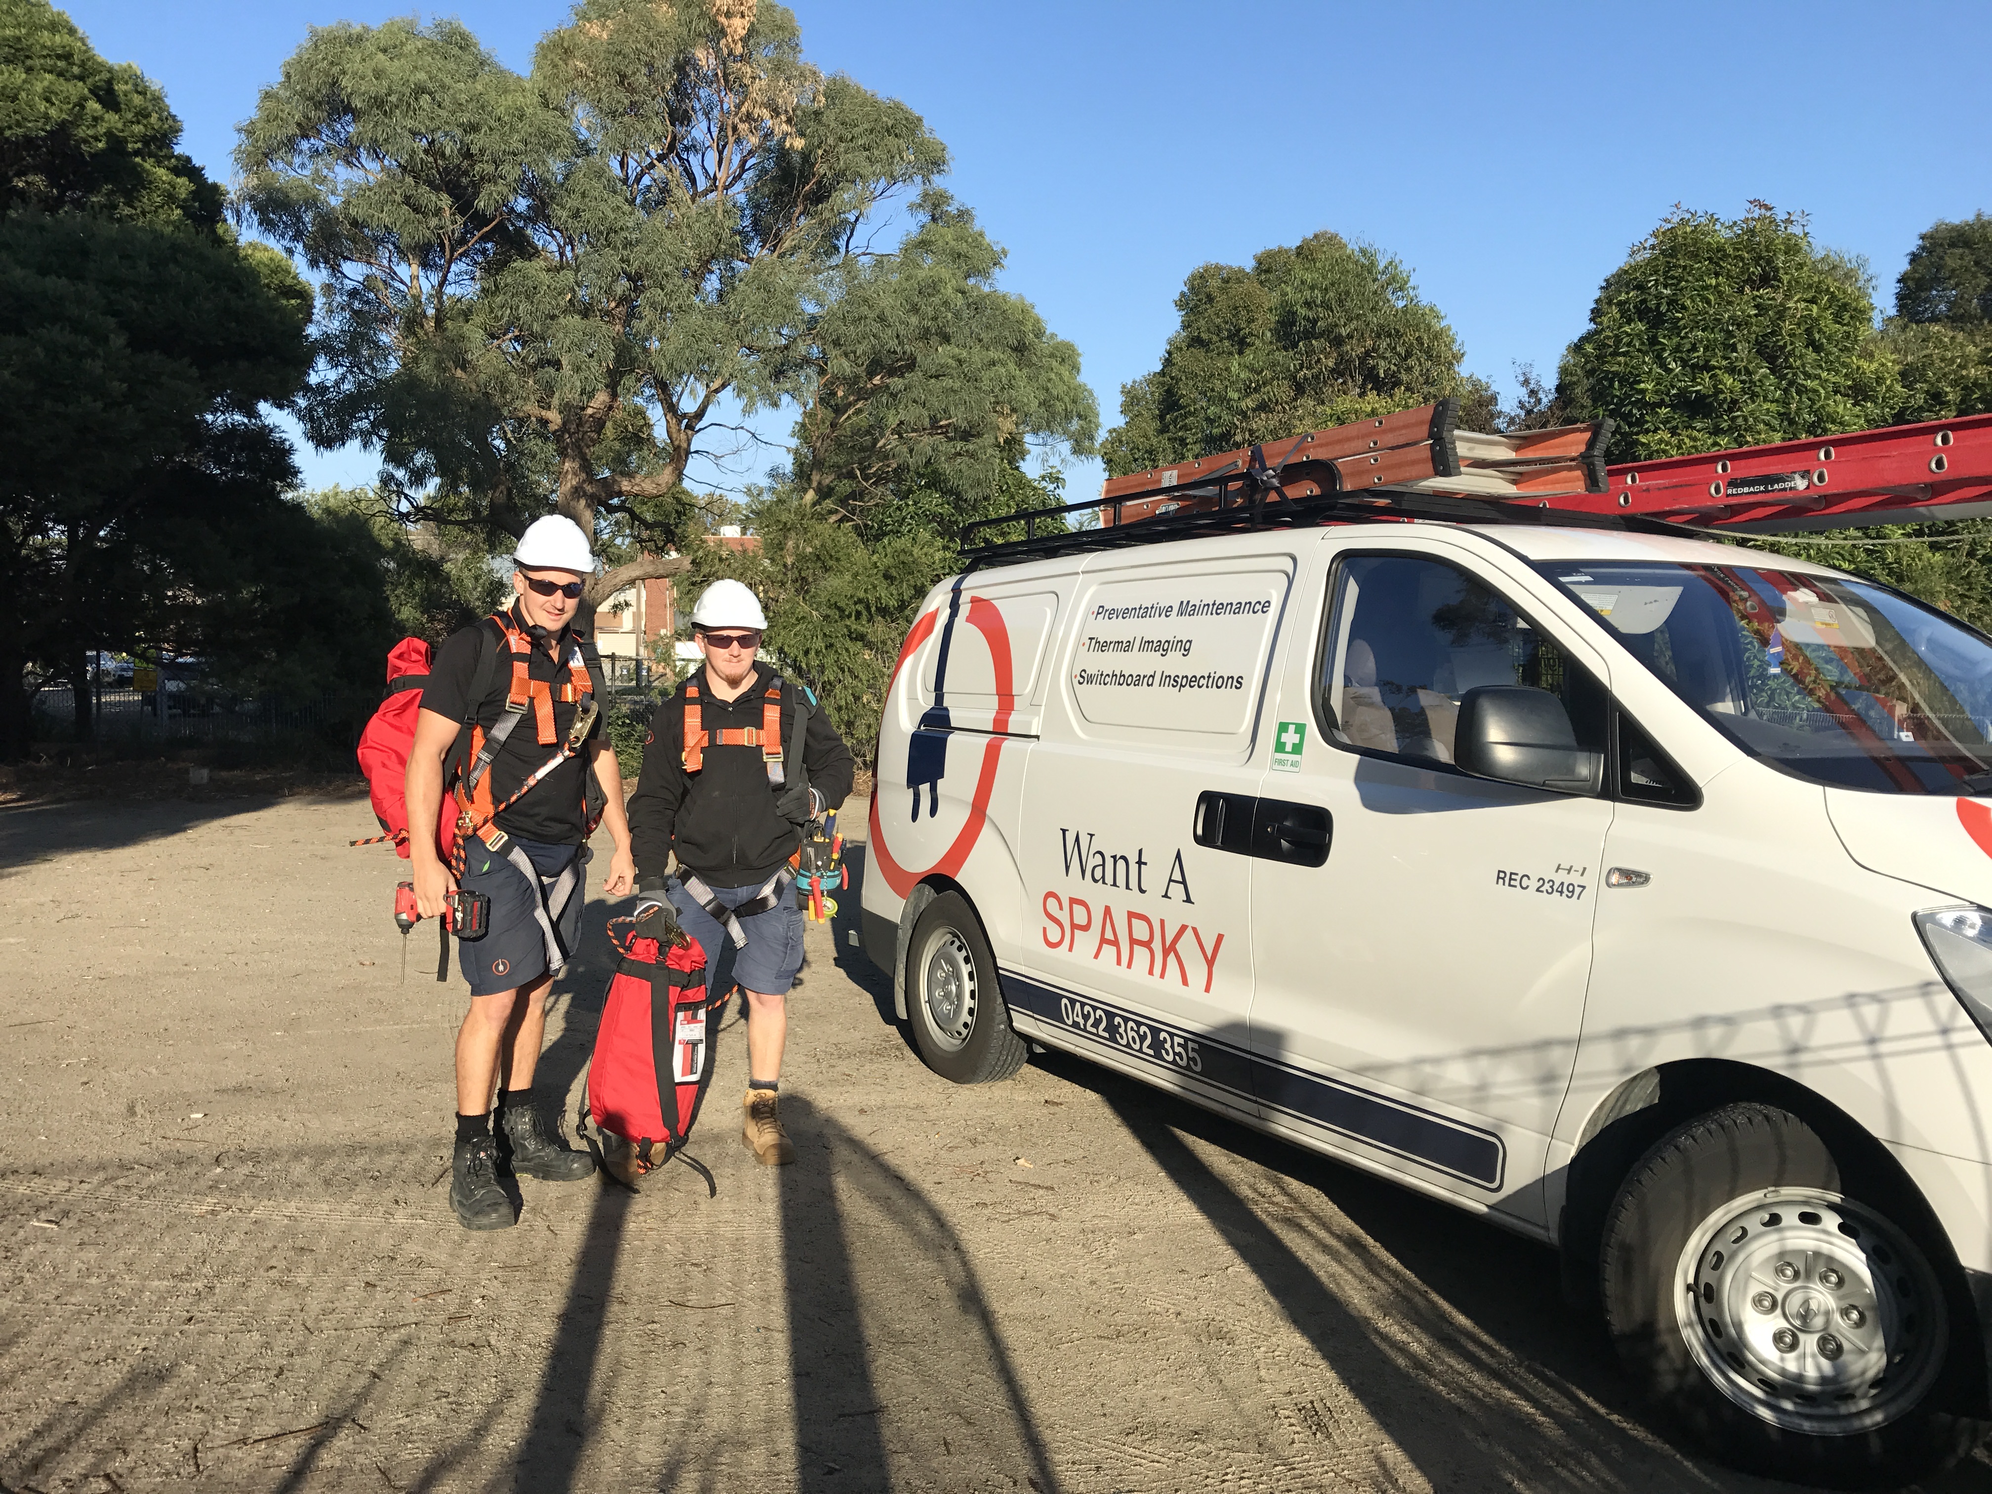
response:
M1325 540L1261 787L1327 811L1333 843L1321 867L1251 861L1257 1096L1279 1127L1540 1225L1612 803L1468 777L1454 725L1476 685L1534 685L1604 751L1604 661L1472 552L1365 540Z

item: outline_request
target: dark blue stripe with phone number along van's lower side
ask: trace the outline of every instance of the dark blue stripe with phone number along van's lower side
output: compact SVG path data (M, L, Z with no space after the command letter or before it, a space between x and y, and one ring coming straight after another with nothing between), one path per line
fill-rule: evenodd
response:
M1275 1118L1299 1118L1478 1187L1500 1189L1506 1147L1494 1131L1307 1074L1187 1028L1135 1016L1096 996L1046 986L1014 970L998 970L998 978L1012 1008L1110 1048L1121 1058L1177 1080L1207 1084L1247 1104L1259 1102L1275 1112Z

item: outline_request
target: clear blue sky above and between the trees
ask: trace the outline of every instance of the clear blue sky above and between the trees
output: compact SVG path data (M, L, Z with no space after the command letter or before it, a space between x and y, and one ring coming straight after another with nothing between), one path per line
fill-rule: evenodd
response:
M76 0L161 82L183 147L229 177L233 129L307 26L357 0ZM1882 309L1916 235L1992 209L1982 4L1337 6L801 0L805 52L948 143L946 183L1008 249L1004 285L1072 339L1106 424L1161 357L1205 261L1335 229L1398 255L1512 388L1554 373L1598 283L1673 203L1811 213ZM556 2L454 14L528 68ZM787 420L767 428L781 434ZM301 452L365 482L363 452ZM721 474L709 474L721 478ZM737 478L737 474L735 474ZM1100 478L1074 466L1072 494Z

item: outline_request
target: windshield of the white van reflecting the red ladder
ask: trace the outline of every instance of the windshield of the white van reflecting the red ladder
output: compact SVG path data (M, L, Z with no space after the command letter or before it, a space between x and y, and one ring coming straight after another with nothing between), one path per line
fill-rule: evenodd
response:
M1743 751L1813 783L1992 793L1992 641L1868 582L1538 564Z

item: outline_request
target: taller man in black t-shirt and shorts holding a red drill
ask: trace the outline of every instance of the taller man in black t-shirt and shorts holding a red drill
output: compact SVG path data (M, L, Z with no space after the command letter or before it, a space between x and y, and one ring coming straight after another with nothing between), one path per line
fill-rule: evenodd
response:
M428 837L408 839L416 908L442 916L458 886L490 896L488 932L458 942L470 1012L456 1034L450 1207L464 1229L514 1223L500 1171L572 1183L596 1167L532 1098L546 992L580 940L590 771L616 841L602 890L620 896L635 880L622 773L596 715L600 661L576 623L594 570L578 524L534 520L514 554L512 608L452 633L436 651L408 751L410 825L436 823L446 755L464 805L460 874L438 861Z

